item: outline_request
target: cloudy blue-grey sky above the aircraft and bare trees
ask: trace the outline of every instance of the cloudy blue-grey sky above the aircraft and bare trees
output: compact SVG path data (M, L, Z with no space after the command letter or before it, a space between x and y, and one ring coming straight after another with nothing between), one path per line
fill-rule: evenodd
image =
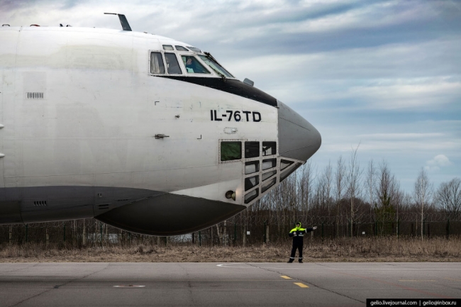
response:
M211 52L321 132L321 171L353 147L411 192L461 177L461 1L0 0L11 26L131 28Z

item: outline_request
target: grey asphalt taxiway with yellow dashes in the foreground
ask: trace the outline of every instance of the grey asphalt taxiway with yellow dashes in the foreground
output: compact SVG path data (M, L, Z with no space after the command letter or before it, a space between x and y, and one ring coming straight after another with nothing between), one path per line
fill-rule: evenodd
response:
M461 263L0 264L0 306L365 306L461 298Z

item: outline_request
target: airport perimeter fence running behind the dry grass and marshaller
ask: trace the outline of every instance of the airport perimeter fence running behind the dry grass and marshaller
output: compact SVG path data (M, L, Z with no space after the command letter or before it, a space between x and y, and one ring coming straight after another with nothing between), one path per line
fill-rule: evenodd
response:
M295 221L303 227L316 225L318 229L307 235L308 240L331 240L344 237L421 237L460 238L461 216L450 213L428 213L421 221L421 213L362 214L350 216L311 215L255 215L240 213L226 222L196 233L174 237L155 237L130 233L95 219L64 222L0 225L0 245L38 243L54 247L136 245L255 245L287 242Z

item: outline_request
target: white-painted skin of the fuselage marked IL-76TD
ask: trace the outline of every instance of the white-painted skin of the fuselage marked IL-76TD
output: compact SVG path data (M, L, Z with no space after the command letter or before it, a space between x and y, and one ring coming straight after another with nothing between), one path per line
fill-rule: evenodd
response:
M243 204L243 161L220 163L219 140L277 141L277 108L150 75L149 50L188 44L33 27L0 28L0 41L0 187L130 187ZM262 121L211 121L211 110L257 111ZM240 197L226 199L228 190Z

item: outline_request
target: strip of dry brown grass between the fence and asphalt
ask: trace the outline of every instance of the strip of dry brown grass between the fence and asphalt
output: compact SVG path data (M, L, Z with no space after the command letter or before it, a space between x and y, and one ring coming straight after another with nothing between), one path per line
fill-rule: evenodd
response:
M250 247L137 245L66 248L0 247L0 262L285 262L290 242ZM340 238L304 242L304 262L460 262L461 240Z

